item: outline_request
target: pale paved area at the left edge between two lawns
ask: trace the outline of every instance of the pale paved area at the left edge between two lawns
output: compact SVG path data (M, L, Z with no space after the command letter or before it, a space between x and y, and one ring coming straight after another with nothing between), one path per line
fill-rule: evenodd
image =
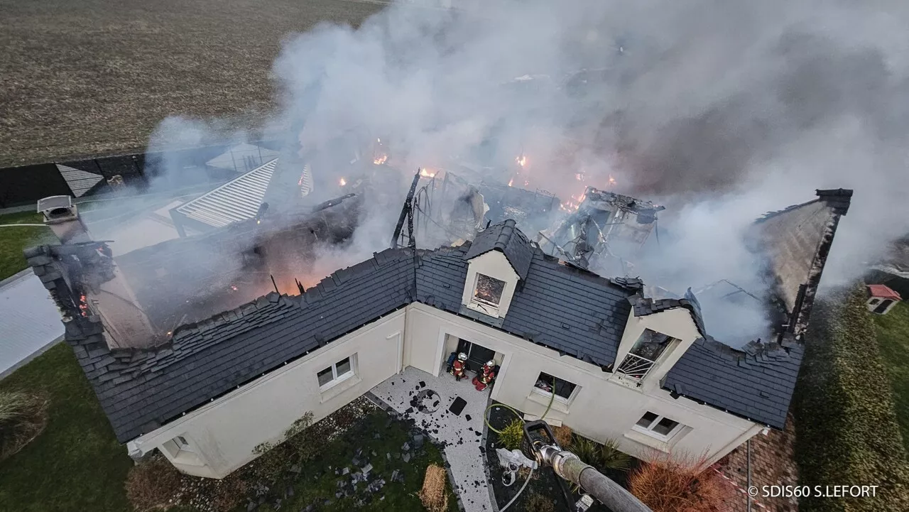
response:
M31 269L0 282L0 378L61 336L60 313Z

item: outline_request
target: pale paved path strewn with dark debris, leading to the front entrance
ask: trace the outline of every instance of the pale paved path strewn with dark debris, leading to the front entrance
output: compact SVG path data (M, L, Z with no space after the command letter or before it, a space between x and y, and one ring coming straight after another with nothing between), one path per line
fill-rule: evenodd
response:
M470 374L472 376L472 374ZM435 392L423 400L428 407L420 411L415 399L427 389ZM489 390L479 392L467 379L455 382L454 377L444 374L435 377L422 370L407 367L404 373L393 376L373 388L373 394L405 417L413 418L417 427L434 437L445 441L445 458L451 466L454 488L461 497L465 512L494 510L489 497L484 472L483 415L489 402ZM455 397L467 402L460 415L448 410ZM432 410L435 403L438 408Z

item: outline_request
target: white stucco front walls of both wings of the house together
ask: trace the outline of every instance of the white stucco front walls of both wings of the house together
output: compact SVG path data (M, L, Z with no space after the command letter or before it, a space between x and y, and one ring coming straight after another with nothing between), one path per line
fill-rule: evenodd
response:
M626 337L636 339L649 326L670 336L690 338L694 325L690 316L685 310L675 311L629 322ZM692 327L686 326L685 318ZM555 400L545 419L561 422L598 441L614 439L620 449L635 457L647 459L658 451L686 452L695 457L704 455L708 462L714 462L762 428L684 397L673 399L658 383L649 387L617 383L612 373L599 366L559 356L554 350L462 316L412 304L136 438L129 443L129 449L147 453L161 448L185 473L225 477L255 458L255 446L280 440L287 427L306 411L312 411L316 420L321 419L404 366L438 376L444 371L445 359L454 350L457 338L495 351L501 365L492 390L495 400L539 417L549 404L548 397L533 391L540 372L567 380L577 386L574 395L567 404ZM623 341L627 351L625 345ZM354 355L356 376L320 391L316 372ZM673 358L680 355L681 351ZM668 442L634 431L632 427L647 411L671 418L684 428ZM178 436L185 437L195 455L176 452L172 443Z

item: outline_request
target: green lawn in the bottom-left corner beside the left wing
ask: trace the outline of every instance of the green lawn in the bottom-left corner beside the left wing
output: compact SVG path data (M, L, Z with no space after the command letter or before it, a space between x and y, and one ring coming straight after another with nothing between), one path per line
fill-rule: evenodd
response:
M0 388L43 393L50 399L45 431L0 462L0 510L132 510L124 481L133 461L116 442L69 346L54 346L0 381Z

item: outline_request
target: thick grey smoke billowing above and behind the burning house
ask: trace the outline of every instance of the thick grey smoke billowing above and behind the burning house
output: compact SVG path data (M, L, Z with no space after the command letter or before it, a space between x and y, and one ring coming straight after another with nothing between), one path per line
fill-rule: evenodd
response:
M659 250L635 271L678 292L725 278L759 294L744 228L815 188L855 190L824 284L856 276L909 231L903 3L454 6L464 9L395 5L358 29L288 35L272 69L279 107L264 127L284 141L285 161L324 158L356 130L387 137L407 174L459 163L507 181L523 154L528 187L563 199L614 176L616 192L667 206ZM205 139L206 124L217 122L168 120L153 147L192 146L185 134ZM313 172L318 186L345 171ZM376 231L397 214L370 216L349 261L333 254L331 268L384 248ZM721 338L764 322L705 313Z

